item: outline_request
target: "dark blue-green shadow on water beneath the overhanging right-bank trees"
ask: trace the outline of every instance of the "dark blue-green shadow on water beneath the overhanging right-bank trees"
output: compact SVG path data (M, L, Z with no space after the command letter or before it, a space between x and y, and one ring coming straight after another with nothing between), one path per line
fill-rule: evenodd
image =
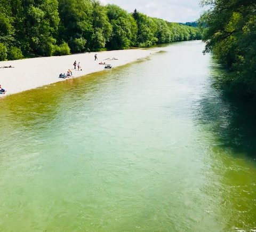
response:
M225 70L213 65L209 91L201 99L199 120L210 127L218 149L256 158L256 103L231 96L218 85Z

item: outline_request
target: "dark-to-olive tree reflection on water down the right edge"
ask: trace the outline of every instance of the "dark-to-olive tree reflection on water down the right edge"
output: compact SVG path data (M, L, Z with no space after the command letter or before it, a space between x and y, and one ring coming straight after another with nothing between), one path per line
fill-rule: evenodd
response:
M205 191L214 193L221 214L225 215L220 230L253 231L256 228L255 103L238 101L219 89L216 82L223 70L214 63L210 74L208 94L199 100L196 115L198 123L213 135L210 169L218 181L212 182L213 175L206 173L211 181Z

